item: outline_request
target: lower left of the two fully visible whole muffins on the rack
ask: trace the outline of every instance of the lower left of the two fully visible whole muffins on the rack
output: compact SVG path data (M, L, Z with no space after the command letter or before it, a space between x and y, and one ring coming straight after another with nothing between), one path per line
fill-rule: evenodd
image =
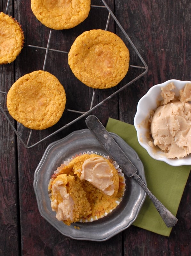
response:
M66 104L64 87L49 72L37 70L20 77L7 94L10 115L25 127L42 130L56 124Z

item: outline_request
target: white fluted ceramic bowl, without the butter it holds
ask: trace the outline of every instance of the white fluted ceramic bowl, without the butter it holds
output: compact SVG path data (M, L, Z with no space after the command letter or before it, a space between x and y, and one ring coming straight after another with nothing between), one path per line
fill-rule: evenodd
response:
M162 150L153 149L148 144L148 139L146 137L147 128L144 127L144 120L149 117L150 110L155 109L157 107L157 101L162 100L162 97L160 95L161 93L161 87L165 87L167 84L173 82L175 85L175 89L172 91L175 92L175 95L179 95L179 90L181 90L186 83L191 83L190 81L179 81L175 79L168 80L162 84L156 84L153 87L151 87L148 92L139 100L137 105L137 112L134 117L134 126L137 130L137 137L139 144L145 148L148 152L148 154L160 161L164 161L167 164L170 164L172 166L180 166L180 165L191 165L191 154L183 157L183 158L174 158L174 159L168 159Z

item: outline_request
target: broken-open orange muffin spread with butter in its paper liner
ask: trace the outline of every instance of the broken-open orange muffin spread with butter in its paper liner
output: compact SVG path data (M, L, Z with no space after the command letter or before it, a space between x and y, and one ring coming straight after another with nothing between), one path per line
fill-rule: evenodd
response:
M62 183L60 187L56 181L62 180L63 175L65 179L73 177L73 183L65 183L67 191L70 191L68 193L73 195L72 203L69 196L60 198ZM124 191L124 175L116 162L93 152L84 152L65 161L53 173L48 185L52 210L57 212L56 218L67 225L76 221L89 222L104 217L120 203ZM67 207L60 207L60 204ZM70 218L66 217L68 204ZM75 207L78 205L81 205L81 208L76 211Z

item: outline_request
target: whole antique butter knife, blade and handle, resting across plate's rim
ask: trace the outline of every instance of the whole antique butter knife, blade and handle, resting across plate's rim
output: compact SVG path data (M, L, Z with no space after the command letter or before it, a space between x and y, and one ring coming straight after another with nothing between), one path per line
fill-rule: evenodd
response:
M116 141L112 138L111 134L107 132L99 119L96 116L90 115L86 118L85 122L89 130L94 134L94 136L101 143L103 148L105 148L111 159L119 164L123 173L129 178L134 178L144 189L144 191L147 193L147 195L155 205L157 211L161 215L166 226L168 228L175 226L178 221L177 218L147 188L139 174L137 174L136 167L130 161L128 156L125 155L125 153L116 143Z

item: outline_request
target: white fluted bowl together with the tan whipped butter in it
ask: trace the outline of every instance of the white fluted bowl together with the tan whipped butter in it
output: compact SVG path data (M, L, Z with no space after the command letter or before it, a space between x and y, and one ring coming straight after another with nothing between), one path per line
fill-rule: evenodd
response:
M139 100L134 125L138 141L154 159L191 164L191 82L168 80Z

